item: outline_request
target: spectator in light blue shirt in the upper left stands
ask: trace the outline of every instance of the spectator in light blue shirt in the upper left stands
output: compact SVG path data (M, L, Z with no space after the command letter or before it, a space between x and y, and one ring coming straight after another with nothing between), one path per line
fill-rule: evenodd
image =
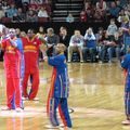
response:
M13 18L15 14L17 14L17 9L15 8L15 4L12 3L11 8L6 10L6 15L8 17Z

